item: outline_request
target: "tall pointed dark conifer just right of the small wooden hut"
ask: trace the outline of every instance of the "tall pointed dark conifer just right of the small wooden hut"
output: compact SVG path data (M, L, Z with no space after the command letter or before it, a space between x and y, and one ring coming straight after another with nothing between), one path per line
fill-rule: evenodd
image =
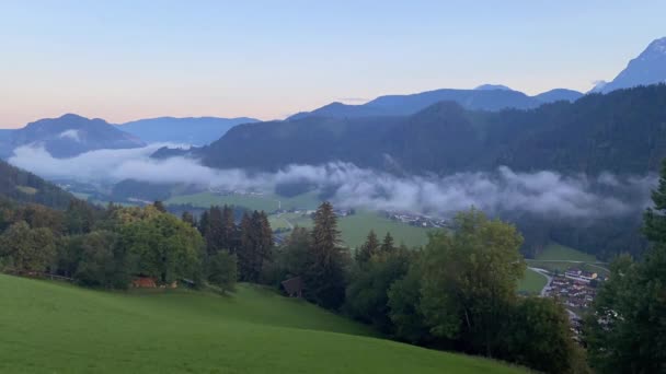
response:
M345 271L349 261L340 246L337 218L330 202L323 202L314 213L308 269L305 277L306 296L312 302L335 309L345 296Z

